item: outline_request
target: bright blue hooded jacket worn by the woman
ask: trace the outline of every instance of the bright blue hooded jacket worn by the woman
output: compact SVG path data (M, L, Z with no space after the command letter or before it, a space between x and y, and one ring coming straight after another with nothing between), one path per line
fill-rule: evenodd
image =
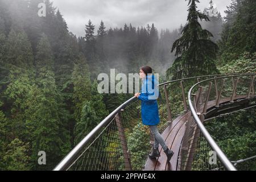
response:
M158 81L154 75L147 75L142 82L141 94L138 99L141 100L141 117L143 125L158 125L160 122L158 113L159 96ZM150 89L151 88L151 89Z

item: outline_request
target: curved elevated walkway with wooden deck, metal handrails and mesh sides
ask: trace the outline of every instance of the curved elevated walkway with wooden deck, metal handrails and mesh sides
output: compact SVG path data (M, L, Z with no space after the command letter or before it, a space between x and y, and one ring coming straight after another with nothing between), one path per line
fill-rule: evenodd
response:
M175 152L170 163L160 146L160 156L148 158L154 138L141 124L141 101L132 97L103 119L53 170L236 171L238 163L255 156L230 161L205 123L255 107L255 75L208 75L159 84L158 127L168 148ZM210 154L216 154L215 161L209 162Z

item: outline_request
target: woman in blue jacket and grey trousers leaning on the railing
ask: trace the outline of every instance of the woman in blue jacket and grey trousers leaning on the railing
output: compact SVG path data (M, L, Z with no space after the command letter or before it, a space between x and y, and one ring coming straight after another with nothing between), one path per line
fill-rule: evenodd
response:
M144 66L139 71L139 77L142 79L142 89L140 93L135 93L135 97L141 100L141 115L143 125L147 125L150 128L151 133L154 136L154 148L151 150L151 153L148 155L150 158L156 158L160 156L158 150L159 143L162 146L164 152L167 155L167 162L170 162L174 152L168 149L166 143L164 142L163 137L160 135L157 125L160 122L159 113L158 113L158 89L154 85L157 85L158 82L155 80L154 75L152 75L152 68ZM148 92L148 88L151 87L151 90L154 92ZM155 90L154 90L155 89Z

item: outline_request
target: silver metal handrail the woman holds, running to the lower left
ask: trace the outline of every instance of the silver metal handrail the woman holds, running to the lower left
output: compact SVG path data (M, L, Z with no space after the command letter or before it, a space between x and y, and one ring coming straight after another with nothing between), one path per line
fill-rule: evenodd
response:
M179 80L172 80L172 81L164 82L162 84L159 84L158 86L163 86L163 85L169 84L171 82L190 80L190 79L193 79L193 78L212 77L212 76L225 76L225 75L233 75L233 76L236 75L237 76L237 75L241 75L241 74L242 73L234 73L234 74L224 74L224 75L207 75L207 76L197 76L197 77L182 78L182 79L179 79ZM77 144L75 146L75 148L73 148L71 150L71 152L68 153L67 156L65 156L65 158L63 160L61 160L61 162L59 164L57 164L57 166L53 169L53 171L66 170L68 168L68 166L70 164L72 164L72 162L74 161L76 156L80 154L82 148L84 146L86 146L86 144L88 144L90 139L95 137L97 132L100 131L100 129L102 127L108 125L108 123L111 121L111 119L113 117L115 117L115 115L117 115L122 109L125 109L125 107L127 105L131 104L131 102L133 102L135 100L135 98L136 98L135 96L130 98L129 100L124 102L122 105L118 106L117 109L112 111L112 113L110 113L105 119L103 119L92 131L90 131L90 133L88 135L86 135L86 137L84 139L81 140L81 142L79 142L79 144Z

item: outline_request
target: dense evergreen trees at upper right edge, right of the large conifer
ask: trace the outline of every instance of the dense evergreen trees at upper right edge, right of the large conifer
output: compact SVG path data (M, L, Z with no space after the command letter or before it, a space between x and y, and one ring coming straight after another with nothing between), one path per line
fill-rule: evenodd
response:
M221 64L238 59L243 52L254 53L256 2L233 0L226 11L227 17L220 42Z

